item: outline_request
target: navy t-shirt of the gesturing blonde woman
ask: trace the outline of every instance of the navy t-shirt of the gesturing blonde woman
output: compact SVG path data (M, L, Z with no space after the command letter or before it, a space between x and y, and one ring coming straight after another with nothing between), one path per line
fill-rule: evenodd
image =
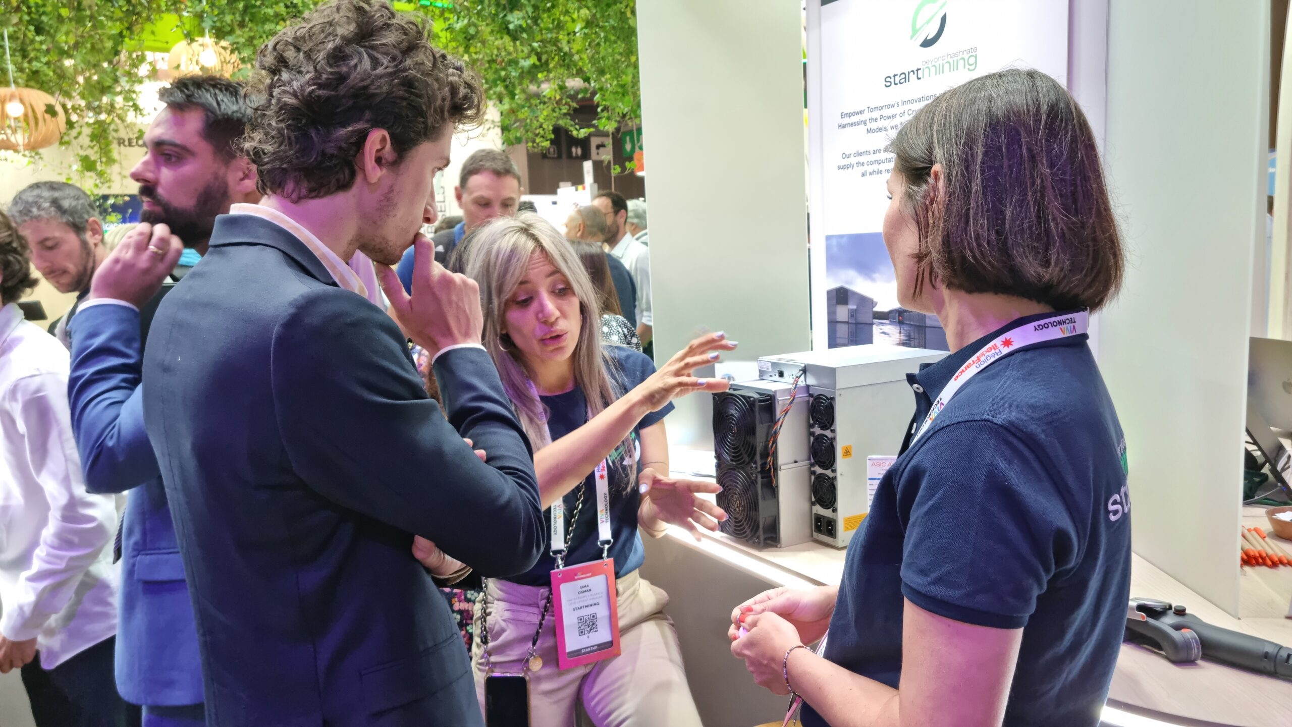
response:
M620 393L627 393L655 373L655 364L643 354L625 346L605 345L610 358L611 382ZM548 431L556 442L566 434L579 429L588 422L588 404L583 390L575 386L565 394L554 396L540 396L543 405L548 408ZM658 412L651 412L633 429L634 451L637 447L638 431L664 418L673 411L673 404L665 404ZM625 453L616 449L610 457L607 479L610 486L610 529L615 542L610 546L610 557L615 559L615 577L623 577L641 568L646 559L642 549L641 536L637 533L637 507L641 505L641 493L637 489L637 475L641 471L641 457L636 452ZM593 482L593 473L583 480L585 488L583 496L583 509L579 519L574 518L574 509L579 501L579 487L566 493L566 537L570 538L570 550L566 551L566 566L575 563L588 563L601 559L601 546L597 545L597 486ZM543 511L544 528L543 557L530 568L528 572L506 579L513 582L528 586L550 586L552 571L556 569L556 559L552 558L552 509ZM572 529L571 529L572 528Z

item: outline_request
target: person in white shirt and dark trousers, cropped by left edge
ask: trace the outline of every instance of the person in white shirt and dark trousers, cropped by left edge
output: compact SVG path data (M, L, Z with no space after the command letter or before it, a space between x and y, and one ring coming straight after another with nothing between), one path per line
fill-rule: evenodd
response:
M22 670L37 727L119 727L116 507L88 495L67 407L68 354L23 320L36 279L0 213L0 673Z

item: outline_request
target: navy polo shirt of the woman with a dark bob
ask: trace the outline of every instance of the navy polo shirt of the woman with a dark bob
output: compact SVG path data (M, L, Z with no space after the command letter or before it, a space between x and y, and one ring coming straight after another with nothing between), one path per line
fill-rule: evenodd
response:
M910 442L970 356L1050 315L1018 319L908 377L916 413L848 548L824 656L895 688L903 599L1022 629L1004 723L1093 727L1125 629L1130 502L1125 439L1087 336L1005 354ZM948 719L955 709L947 704ZM826 724L809 706L802 722Z

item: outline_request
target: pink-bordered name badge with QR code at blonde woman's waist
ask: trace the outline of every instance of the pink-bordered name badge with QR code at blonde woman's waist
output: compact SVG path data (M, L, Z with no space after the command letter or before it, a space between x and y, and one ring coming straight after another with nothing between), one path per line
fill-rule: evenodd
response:
M552 604L559 669L619 656L614 558L552 571Z

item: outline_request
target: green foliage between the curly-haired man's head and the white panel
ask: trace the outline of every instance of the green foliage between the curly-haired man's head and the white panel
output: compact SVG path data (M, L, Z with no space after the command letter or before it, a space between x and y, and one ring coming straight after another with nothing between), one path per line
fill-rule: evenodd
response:
M599 129L641 118L634 0L456 0L426 12L437 45L483 77L505 145L548 146L584 97L597 103ZM570 89L571 80L588 88Z

